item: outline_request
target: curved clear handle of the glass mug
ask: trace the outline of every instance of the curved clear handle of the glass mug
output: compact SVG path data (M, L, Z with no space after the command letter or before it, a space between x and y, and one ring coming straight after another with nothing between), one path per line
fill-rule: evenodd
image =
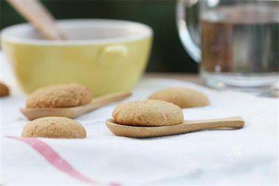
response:
M176 3L176 26L185 50L195 62L201 61L199 48L198 0L178 0ZM196 36L193 38L193 35Z

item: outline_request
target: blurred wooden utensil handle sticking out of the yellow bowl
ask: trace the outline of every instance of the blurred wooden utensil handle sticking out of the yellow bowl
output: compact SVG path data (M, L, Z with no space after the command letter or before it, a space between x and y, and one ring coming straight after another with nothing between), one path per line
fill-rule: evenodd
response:
M64 40L66 37L56 27L54 17L38 0L8 0L22 17L31 22L47 39Z

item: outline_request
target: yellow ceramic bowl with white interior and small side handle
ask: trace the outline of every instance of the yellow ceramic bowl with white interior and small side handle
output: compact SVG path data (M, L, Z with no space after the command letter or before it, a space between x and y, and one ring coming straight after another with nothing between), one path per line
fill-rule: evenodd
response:
M1 45L25 92L81 83L94 96L132 90L149 59L150 27L122 20L61 20L67 41L40 38L30 24L1 31Z

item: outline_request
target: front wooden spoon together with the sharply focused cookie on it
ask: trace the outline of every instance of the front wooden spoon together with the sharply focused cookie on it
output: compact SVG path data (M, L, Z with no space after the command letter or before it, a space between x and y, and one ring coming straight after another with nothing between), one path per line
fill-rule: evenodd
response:
M184 120L179 106L158 100L130 101L117 106L107 127L116 136L145 138L184 134L206 129L240 129L242 117L213 120Z

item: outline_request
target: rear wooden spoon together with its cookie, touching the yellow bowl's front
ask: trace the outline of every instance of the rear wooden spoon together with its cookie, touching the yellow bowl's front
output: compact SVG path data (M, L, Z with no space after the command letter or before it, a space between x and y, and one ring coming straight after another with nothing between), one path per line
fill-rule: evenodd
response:
M116 92L92 99L91 92L83 85L54 85L30 94L27 99L27 108L20 108L20 111L29 120L48 116L74 118L115 101L126 99L130 95L131 92Z

